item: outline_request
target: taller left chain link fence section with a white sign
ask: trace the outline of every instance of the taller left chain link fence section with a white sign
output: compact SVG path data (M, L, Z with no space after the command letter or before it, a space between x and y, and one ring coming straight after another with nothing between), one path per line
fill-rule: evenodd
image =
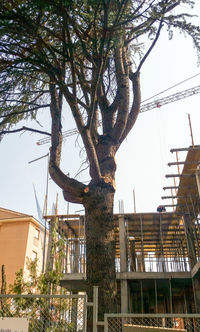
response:
M0 317L27 318L28 332L86 332L86 295L0 295Z

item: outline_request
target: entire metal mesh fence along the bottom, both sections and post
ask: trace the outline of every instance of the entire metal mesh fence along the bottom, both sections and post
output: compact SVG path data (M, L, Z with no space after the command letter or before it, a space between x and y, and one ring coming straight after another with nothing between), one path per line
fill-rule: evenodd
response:
M28 332L86 332L87 306L93 307L93 332L200 332L200 314L105 314L98 321L98 287L86 295L1 295L0 317L27 318ZM1 326L0 326L1 328ZM0 329L1 330L1 329ZM87 331L88 332L88 331Z

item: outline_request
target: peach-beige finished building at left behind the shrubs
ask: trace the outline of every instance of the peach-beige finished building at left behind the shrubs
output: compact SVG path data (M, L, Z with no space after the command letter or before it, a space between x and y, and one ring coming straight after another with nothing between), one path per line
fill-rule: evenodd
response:
M27 274L27 257L38 259L38 273L42 271L44 228L34 218L0 221L0 267L5 265L7 290L15 280L15 272L23 269ZM36 231L37 230L37 231ZM39 238L37 238L39 236ZM46 240L46 253L48 234ZM1 287L1 278L0 278Z

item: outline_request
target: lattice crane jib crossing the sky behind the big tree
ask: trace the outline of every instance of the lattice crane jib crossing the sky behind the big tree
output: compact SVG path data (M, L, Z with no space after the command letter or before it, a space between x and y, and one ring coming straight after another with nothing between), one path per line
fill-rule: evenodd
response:
M187 90L183 90L181 92L174 93L167 97L163 97L163 98L155 100L151 103L144 104L140 108L140 113L150 111L154 108L160 108L163 105L170 104L174 101L184 99L184 98L196 95L198 93L200 93L200 85L187 89ZM99 125L101 125L101 122L99 122ZM63 132L63 138L67 138L67 137L77 135L77 134L78 134L78 130L76 128L69 129L69 130ZM37 141L37 145L47 144L50 142L50 140L51 140L50 137L44 137L44 138L40 139L39 141Z

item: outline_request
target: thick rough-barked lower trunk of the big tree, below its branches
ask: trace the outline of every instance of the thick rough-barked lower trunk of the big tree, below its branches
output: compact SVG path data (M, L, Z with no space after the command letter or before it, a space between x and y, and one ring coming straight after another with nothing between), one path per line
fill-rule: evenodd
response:
M99 286L99 320L106 312L116 312L114 192L111 186L90 185L85 199L86 272L89 300L92 286Z

